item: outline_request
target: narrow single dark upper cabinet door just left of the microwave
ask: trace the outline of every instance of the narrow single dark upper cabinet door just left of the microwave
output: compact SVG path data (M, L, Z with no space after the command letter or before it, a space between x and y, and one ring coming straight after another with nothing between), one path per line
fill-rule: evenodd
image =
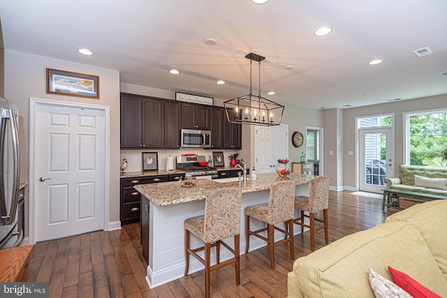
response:
M165 144L167 149L180 148L180 105L175 101L165 102Z

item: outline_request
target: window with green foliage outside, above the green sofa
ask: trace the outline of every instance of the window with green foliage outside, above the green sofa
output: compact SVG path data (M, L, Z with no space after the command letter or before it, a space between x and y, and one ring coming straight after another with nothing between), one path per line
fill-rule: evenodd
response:
M447 111L405 114L406 164L447 167Z

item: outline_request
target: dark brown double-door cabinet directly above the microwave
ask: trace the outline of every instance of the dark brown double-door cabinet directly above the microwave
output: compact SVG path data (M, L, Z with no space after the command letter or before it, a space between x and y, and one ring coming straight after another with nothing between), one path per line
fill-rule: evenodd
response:
M182 128L211 129L211 107L207 105L181 104Z

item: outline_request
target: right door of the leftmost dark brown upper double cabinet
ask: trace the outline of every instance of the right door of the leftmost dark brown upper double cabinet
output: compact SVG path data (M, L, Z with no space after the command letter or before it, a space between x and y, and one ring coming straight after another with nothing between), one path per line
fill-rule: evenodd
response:
M163 101L144 98L142 100L142 147L163 147Z

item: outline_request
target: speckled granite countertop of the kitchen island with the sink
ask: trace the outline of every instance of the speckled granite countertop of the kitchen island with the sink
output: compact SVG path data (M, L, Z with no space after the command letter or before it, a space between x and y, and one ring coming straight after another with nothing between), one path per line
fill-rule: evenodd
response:
M291 173L288 175L288 179L299 184L307 184L312 180L314 176L308 176L305 174ZM221 183L213 180L199 179L196 181L196 186L182 187L182 182L164 182L156 184L140 184L135 185L135 188L139 193L144 195L156 206L167 206L171 204L180 204L185 202L192 202L196 200L204 200L205 194L217 188L223 187L240 187L242 193L251 193L254 191L266 191L270 189L270 186L274 182L278 181L278 174L258 174L256 181L247 180L246 184L238 181Z

